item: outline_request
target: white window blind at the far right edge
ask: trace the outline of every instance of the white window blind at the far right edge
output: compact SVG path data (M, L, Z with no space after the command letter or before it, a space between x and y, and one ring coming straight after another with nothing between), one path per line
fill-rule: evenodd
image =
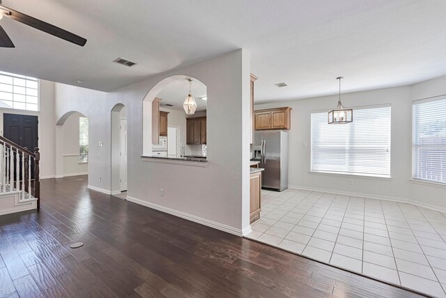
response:
M413 178L446 183L446 99L413 105Z

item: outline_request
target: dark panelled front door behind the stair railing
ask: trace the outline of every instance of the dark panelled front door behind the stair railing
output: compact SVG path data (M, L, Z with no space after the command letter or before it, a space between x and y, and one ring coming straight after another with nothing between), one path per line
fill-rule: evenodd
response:
M3 137L26 147L34 152L38 147L38 120L37 116L3 114ZM34 178L34 161L31 164L31 178ZM15 161L14 161L15 165ZM22 177L22 161L20 161L20 177ZM15 169L16 170L16 169Z

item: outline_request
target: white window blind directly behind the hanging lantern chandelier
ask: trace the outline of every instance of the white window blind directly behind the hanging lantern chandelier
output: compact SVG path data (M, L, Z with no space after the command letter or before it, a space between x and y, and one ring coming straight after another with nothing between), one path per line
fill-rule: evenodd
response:
M390 106L356 108L350 124L312 114L312 172L390 177Z

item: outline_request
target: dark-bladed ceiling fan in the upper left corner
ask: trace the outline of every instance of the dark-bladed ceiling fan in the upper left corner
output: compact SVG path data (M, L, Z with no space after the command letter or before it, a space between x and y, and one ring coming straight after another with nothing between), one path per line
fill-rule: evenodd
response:
M23 24L36 28L40 31L51 34L52 36L56 36L64 40L67 40L70 43L75 43L76 45L80 45L81 47L83 47L86 43L85 38L77 36L74 33L63 30L52 24L48 24L47 22L38 20L35 17L25 15L24 13L20 13L17 10L13 10L11 8L3 6L1 5L1 0L0 0L0 20L3 16L9 17L12 20L21 22ZM9 38L8 34L6 34L6 31L3 30L1 26L0 26L0 47L15 47L13 41Z

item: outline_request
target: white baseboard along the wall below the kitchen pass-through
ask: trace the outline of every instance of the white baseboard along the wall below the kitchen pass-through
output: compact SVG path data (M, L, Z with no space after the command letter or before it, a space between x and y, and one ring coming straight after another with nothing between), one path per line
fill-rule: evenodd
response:
M217 229L217 230L220 230L223 232L227 232L229 234L234 234L239 237L243 237L244 232L247 232L247 228L245 228L244 230L240 230L237 228L230 227L229 225L222 225L221 223L216 223L215 221L209 221L208 219L205 219L205 218L187 214L187 213L184 213L181 211L176 211L174 209L170 209L170 208L163 207L163 206L160 206L157 204L153 204L151 202L146 202L144 200L140 200L140 199L133 198L130 196L127 196L127 200L130 202L134 202L136 204L140 204L140 205L149 207L151 209L155 209L155 210L167 213L167 214L171 214L174 216L178 216L180 218L187 219L187 221L193 221L194 223L199 223L201 225L206 225L210 228L214 228L214 229ZM251 230L250 226L248 228L249 228L249 230Z

